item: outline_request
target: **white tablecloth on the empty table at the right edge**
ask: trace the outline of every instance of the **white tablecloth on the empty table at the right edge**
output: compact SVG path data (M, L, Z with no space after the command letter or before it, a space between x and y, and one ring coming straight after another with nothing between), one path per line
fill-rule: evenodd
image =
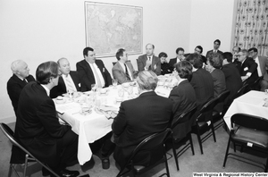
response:
M265 107L265 100L268 95L261 91L249 91L247 94L236 98L224 115L224 121L230 129L230 117L233 114L251 114L268 119L268 107Z

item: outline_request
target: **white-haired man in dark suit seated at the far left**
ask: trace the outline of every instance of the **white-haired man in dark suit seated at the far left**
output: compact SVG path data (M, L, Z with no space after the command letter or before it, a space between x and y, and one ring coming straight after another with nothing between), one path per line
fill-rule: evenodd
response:
M13 109L17 115L18 102L21 95L21 90L30 81L35 81L34 77L29 74L29 68L27 63L16 60L11 64L11 69L13 71L13 76L7 81L7 93L10 97Z

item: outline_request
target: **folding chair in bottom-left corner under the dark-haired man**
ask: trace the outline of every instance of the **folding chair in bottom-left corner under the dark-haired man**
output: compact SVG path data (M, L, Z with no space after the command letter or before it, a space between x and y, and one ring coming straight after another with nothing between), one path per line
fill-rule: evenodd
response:
M43 164L35 156L32 156L32 154L30 154L26 148L22 147L21 144L19 143L19 141L14 138L14 136L13 136L14 132L8 125L6 125L2 122L2 123L0 123L0 129L1 129L1 131L3 131L4 135L12 142L13 146L19 147L23 152L25 152L25 162L24 162L24 164L20 164L20 165L24 165L23 177L26 176L28 164L31 162L37 162L38 164L41 164L42 166L44 166L46 168L46 170L48 170L50 173L54 174L55 177L60 177L58 174L54 173L54 171L51 170L51 168L49 168L46 164ZM17 176L20 176L15 169L15 165L16 164L12 164L12 162L11 162L11 164L9 166L8 177L11 176L12 171L14 171L17 174Z

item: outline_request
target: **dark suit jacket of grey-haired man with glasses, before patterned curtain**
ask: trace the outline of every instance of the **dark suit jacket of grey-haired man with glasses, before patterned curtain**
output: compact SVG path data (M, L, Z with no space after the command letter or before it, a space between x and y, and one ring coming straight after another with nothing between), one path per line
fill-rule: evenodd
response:
M257 63L250 57L247 57L244 63L242 63L239 72L241 76L246 76L247 72L251 72L250 77L247 79L248 85L253 84L258 79Z

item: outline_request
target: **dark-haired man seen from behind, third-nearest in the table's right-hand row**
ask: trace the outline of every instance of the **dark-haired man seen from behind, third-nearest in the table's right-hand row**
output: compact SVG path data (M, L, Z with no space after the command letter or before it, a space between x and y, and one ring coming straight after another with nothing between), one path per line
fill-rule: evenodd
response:
M211 74L203 69L203 61L197 53L190 54L186 60L193 65L193 76L190 84L195 89L197 110L214 97L214 80Z

